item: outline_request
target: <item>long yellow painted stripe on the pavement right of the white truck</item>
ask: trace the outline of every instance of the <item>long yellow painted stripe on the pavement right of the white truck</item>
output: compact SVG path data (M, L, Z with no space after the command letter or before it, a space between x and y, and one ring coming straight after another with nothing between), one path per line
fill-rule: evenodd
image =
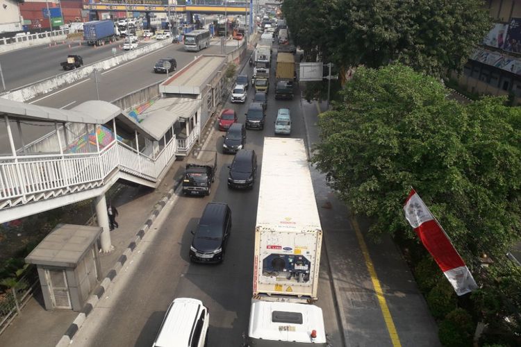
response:
M395 323L394 321L392 321L392 316L387 305L386 297L383 295L380 281L377 276L377 271L374 270L374 265L372 264L372 260L369 255L369 250L367 249L367 245L365 244L365 241L363 239L362 232L360 231L360 227L358 226L358 221L356 221L356 217L354 215L352 215L350 219L353 224L354 231L356 233L356 238L358 239L358 245L360 246L363 253L363 257L365 259L365 266L367 266L367 271L369 271L369 274L371 276L374 291L377 294L378 303L383 314L383 320L386 321L387 331L389 332L389 337L391 339L392 346L401 347L402 343L400 342L398 333L396 332Z

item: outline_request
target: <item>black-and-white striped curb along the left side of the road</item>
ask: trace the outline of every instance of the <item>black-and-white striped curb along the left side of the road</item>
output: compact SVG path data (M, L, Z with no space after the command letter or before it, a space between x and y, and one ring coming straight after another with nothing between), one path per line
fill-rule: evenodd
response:
M144 225L142 226L142 228L140 228L138 233L135 235L133 241L129 244L129 246L127 246L126 250L119 257L116 264L112 267L112 269L110 269L110 271L108 271L106 278L104 278L104 280L101 281L99 287L97 287L97 289L94 290L94 294L92 294L90 298L88 298L87 303L85 303L83 309L80 311L78 316L76 316L76 319L74 319L71 325L69 325L69 328L67 328L60 341L58 341L56 347L69 346L72 339L74 338L74 335L76 335L76 332L80 330L81 325L83 325L83 322L85 322L85 319L87 319L87 317L92 313L98 301L108 290L114 278L117 276L117 273L119 273L119 270L122 269L126 260L128 260L129 257L132 255L133 251L138 246L138 244L140 244L144 235L147 233L148 230L150 230L152 223L154 223L154 220L158 217L161 210L163 210L167 202L170 200L170 198L172 198L172 196L174 196L176 190L180 186L181 180L176 180L176 183L174 183L174 187L170 188L167 194L165 194L160 199L160 201L156 203L156 208L154 209L154 211L151 212L147 221L144 222Z

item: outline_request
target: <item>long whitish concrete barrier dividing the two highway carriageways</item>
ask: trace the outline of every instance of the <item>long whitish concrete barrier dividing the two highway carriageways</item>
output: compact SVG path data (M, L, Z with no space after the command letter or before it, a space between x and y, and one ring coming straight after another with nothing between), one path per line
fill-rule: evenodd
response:
M154 42L153 44L147 44L147 46L142 46L120 56L115 56L100 62L94 62L79 69L64 72L63 74L59 74L51 78L46 78L31 85L20 87L17 90L13 90L1 95L1 97L13 101L25 102L35 98L38 95L47 94L53 90L57 90L58 88L63 87L64 85L69 85L86 78L92 74L95 69L99 71L108 70L111 67L115 67L116 65L122 64L123 62L128 62L129 60L137 58L138 56L142 56L145 53L163 48L169 44L172 44L170 40L161 40Z

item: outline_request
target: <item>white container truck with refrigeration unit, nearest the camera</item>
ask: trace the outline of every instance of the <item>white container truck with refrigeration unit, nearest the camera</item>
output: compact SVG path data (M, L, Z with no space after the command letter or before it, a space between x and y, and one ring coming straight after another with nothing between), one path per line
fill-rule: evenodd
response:
M322 227L303 139L266 137L245 346L327 346L317 287Z

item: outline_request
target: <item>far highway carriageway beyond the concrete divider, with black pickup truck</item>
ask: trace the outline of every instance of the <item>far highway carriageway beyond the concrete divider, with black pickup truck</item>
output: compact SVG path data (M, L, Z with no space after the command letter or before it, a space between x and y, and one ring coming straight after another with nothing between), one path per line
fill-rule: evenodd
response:
M84 65L113 57L113 48L117 50L116 55L123 54L126 52L120 48L123 47L123 41L94 47L87 46L85 41L80 45L78 40L65 40L56 42L56 45L44 44L3 53L0 55L0 64L6 90L14 90L22 85L65 73L60 62L65 62L69 54L80 55ZM140 41L138 47L151 42L155 40Z

